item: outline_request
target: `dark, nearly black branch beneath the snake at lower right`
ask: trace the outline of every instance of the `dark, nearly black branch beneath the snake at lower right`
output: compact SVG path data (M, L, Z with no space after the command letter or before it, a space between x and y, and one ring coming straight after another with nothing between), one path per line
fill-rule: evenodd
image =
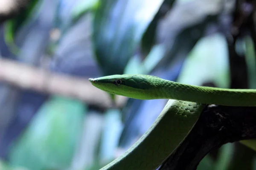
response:
M256 139L256 107L208 106L160 170L195 170L209 151L228 142Z

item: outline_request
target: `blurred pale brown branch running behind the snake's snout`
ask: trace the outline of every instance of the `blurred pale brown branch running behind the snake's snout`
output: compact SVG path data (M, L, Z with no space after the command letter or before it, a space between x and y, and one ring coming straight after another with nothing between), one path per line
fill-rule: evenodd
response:
M2 82L8 82L23 89L79 99L103 109L120 108L125 105L127 98L123 96L116 96L116 104L113 105L110 96L91 85L88 78L50 73L42 68L0 59L0 81Z

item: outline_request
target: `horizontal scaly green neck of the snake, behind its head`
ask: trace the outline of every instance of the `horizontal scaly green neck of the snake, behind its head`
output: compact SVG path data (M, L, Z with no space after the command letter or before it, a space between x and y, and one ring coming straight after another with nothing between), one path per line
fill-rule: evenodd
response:
M157 99L177 99L225 106L256 106L255 89L225 89L185 85L169 80L154 83Z

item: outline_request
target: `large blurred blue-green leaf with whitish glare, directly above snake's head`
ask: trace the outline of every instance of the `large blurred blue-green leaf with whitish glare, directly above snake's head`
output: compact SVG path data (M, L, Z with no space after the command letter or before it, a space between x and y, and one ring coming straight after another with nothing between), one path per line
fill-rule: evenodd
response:
M100 1L94 19L93 41L103 74L123 74L162 3L163 0Z

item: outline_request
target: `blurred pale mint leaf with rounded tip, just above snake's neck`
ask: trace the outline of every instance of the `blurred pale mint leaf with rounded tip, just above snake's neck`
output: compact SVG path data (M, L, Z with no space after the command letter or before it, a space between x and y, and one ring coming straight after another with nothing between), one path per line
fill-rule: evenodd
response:
M214 82L217 87L228 88L230 82L227 54L223 35L213 34L201 38L187 57L177 81L190 85Z

